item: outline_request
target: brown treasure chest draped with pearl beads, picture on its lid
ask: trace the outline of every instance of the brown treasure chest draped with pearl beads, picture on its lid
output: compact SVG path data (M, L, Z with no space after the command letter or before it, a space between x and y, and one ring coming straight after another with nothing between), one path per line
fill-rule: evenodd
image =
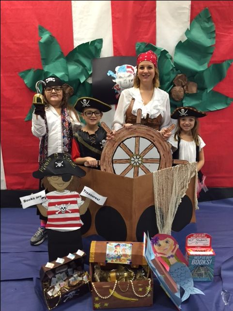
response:
M153 304L153 277L141 242L93 241L90 278L93 310Z

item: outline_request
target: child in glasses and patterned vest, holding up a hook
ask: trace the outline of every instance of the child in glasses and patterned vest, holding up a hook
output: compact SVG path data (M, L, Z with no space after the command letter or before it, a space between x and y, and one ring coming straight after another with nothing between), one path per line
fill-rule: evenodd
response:
M44 104L34 104L31 126L32 134L40 140L39 167L51 154L71 154L73 133L81 128L78 113L68 104L73 92L73 87L55 76L47 77L43 81ZM42 190L41 185L39 189ZM33 246L43 243L47 238L47 217L39 210L37 214L40 215L40 227L31 237Z

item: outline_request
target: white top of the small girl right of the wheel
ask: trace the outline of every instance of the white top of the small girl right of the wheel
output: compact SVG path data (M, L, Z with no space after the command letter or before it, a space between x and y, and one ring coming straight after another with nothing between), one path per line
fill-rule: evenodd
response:
M205 146L205 143L202 140L202 137L198 136L199 138L199 152ZM174 134L168 140L168 143L172 145L172 147L178 147L178 141L174 139ZM179 146L179 160L186 160L188 162L196 162L196 144L195 141L187 142L184 139L180 140Z

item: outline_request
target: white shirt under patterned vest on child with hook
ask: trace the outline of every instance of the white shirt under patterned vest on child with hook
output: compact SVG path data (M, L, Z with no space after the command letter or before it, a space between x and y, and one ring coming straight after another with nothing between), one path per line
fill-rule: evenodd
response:
M56 153L63 152L63 139L62 139L62 119L61 115L53 108L53 106L48 105L45 109L47 126L48 126L48 156ZM76 118L73 111L68 110L70 115L70 122L72 126L73 133L81 128L81 123ZM36 118L37 117L37 118ZM41 139L46 134L45 120L40 115L32 114L32 134Z

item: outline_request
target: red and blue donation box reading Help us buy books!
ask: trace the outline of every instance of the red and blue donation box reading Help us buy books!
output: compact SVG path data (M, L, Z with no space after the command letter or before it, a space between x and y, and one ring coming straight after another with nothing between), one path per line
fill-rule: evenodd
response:
M186 237L186 260L194 281L214 278L215 252L211 239L206 233L192 233Z

